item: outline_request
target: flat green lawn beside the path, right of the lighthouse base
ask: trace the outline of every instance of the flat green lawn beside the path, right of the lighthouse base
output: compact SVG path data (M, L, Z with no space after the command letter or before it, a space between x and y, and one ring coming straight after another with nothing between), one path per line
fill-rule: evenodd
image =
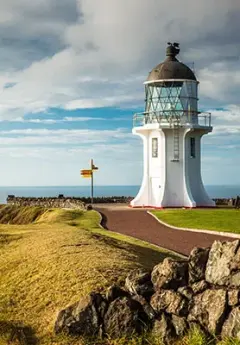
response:
M160 220L180 228L206 229L240 234L240 210L198 209L152 211Z

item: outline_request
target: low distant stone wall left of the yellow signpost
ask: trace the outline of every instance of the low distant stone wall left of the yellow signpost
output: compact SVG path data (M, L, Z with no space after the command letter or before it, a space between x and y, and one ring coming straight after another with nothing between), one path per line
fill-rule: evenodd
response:
M80 198L64 197L59 195L55 198L24 198L8 195L8 205L15 206L43 206L53 208L76 208L85 209L85 203Z

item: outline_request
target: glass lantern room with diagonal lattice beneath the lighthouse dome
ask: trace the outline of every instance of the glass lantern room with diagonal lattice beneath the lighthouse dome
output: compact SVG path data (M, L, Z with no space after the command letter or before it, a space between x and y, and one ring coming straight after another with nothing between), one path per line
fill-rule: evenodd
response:
M197 113L197 82L159 81L146 84L146 107L149 113L165 116L182 116Z

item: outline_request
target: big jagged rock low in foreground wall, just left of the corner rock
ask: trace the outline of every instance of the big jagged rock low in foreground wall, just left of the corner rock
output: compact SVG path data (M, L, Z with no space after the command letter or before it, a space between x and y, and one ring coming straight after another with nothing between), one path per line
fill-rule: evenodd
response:
M205 290L194 296L188 315L189 322L199 322L208 332L219 334L227 310L227 292Z

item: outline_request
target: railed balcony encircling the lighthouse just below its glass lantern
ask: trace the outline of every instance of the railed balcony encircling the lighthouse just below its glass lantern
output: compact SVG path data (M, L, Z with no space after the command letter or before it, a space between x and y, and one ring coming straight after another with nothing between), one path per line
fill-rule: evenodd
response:
M180 127L205 127L210 129L212 128L211 113L165 110L136 113L133 116L133 127L157 125L158 128L171 128L176 124Z

